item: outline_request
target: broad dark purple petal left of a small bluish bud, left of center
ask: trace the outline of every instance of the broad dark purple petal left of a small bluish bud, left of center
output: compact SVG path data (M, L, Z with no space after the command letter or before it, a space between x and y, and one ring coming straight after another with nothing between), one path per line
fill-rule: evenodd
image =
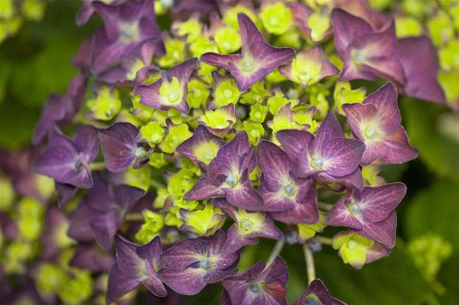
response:
M121 172L136 160L139 130L130 123L115 123L107 129L99 130L105 166L111 172Z

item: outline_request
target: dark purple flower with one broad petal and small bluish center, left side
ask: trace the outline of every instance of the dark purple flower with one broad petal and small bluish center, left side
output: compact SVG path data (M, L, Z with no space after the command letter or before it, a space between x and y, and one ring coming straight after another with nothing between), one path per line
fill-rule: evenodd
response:
M147 165L153 148L138 136L139 130L130 123L115 123L99 130L100 146L109 171L121 172L132 164L134 168Z

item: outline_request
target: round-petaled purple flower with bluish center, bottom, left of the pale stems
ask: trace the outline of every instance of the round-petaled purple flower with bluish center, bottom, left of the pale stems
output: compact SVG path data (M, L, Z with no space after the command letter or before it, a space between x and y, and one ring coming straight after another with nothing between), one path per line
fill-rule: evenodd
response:
M218 230L212 237L188 238L179 241L161 254L166 265L158 277L174 291L193 295L207 284L236 274L237 253L224 254L226 235Z

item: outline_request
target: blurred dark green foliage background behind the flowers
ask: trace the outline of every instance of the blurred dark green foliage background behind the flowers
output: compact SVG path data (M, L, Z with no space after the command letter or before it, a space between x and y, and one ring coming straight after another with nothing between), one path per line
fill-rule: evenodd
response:
M75 25L80 1L54 1L40 22L26 21L19 33L0 46L0 146L18 149L30 142L42 104L52 92L64 93L77 70L70 59L100 20ZM362 83L367 92L382 82ZM354 86L353 86L354 87ZM408 193L397 208L398 240L392 254L355 270L329 246L315 254L317 277L331 294L352 304L456 304L459 291L459 127L450 110L401 97L403 125L420 157L403 165L387 165L387 182L402 181ZM455 124L455 125L454 125ZM332 237L338 230L326 228ZM274 243L247 247L244 270L266 260ZM448 256L447 249L452 247ZM306 288L301 246L286 246L293 301ZM441 257L445 260L442 261ZM438 272L437 272L438 271ZM185 298L189 304L217 304L221 287Z

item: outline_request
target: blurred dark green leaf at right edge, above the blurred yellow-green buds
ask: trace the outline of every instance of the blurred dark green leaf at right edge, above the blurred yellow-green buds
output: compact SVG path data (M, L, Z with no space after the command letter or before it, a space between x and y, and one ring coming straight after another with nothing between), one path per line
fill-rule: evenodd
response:
M435 233L459 250L459 183L442 183L419 191L408 205L404 219L407 238Z

